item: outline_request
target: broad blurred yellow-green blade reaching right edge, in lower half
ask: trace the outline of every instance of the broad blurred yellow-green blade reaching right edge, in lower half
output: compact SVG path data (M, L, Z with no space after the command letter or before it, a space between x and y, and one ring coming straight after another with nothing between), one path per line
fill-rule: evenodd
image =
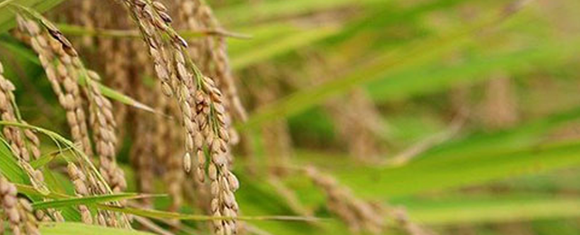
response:
M433 160L424 157L400 168L361 167L333 174L364 196L404 196L579 166L580 143L537 145L493 154L464 152ZM380 195L376 188L382 189Z

